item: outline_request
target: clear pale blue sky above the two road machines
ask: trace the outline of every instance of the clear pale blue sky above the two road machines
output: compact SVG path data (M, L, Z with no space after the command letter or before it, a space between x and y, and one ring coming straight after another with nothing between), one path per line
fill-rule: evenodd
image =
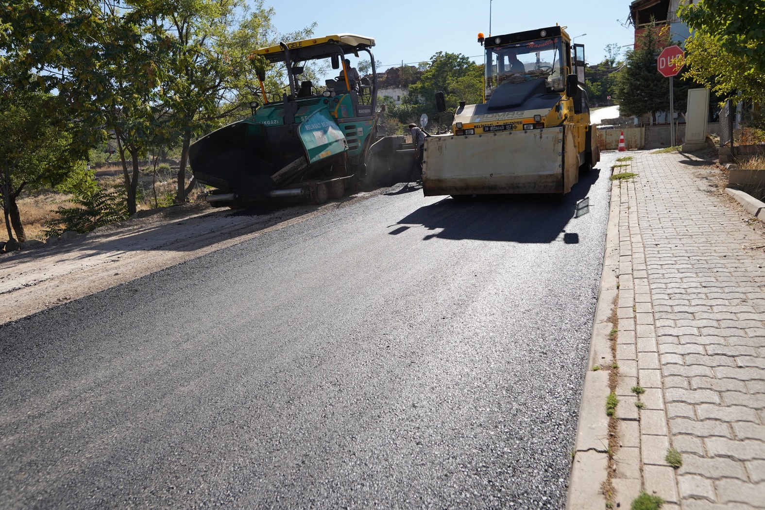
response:
M607 44L633 43L633 28L625 27L630 0L409 0L408 2L321 2L265 0L276 11L278 31L299 30L317 22L314 35L353 34L374 37L373 53L382 70L404 63L430 60L437 51L476 57L483 54L478 32L493 34L567 26L568 34L585 45L588 63L605 57ZM369 9L369 10L365 10ZM622 48L627 50L627 48ZM473 60L482 62L482 57Z

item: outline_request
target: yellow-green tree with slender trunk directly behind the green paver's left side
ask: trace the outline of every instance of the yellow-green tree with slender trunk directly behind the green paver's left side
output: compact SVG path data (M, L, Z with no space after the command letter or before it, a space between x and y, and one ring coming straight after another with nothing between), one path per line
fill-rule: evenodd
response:
M272 26L273 8L265 8L262 0L252 3L250 8L245 0L176 0L164 13L171 50L163 102L181 141L177 203L183 203L190 190L185 178L191 140L236 112L249 112L247 102L264 101L255 69L260 63L251 58L252 50L304 39L315 26L278 37ZM284 86L278 83L279 76L272 73L276 81L267 85ZM310 69L305 76L311 79Z

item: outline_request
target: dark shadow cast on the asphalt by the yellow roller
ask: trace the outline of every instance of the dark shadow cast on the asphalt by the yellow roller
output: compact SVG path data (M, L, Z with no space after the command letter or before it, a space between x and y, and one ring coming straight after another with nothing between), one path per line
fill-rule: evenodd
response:
M566 244L579 242L578 234L566 232L575 217L576 204L588 196L600 177L595 168L582 174L567 195L487 195L470 200L444 198L422 206L396 225L422 225L438 231L428 239L476 239L480 241L549 243L564 232ZM401 232L396 229L393 233Z

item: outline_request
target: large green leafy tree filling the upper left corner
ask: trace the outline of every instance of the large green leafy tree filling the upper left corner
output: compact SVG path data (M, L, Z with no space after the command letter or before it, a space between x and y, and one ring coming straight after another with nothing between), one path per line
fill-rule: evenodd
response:
M159 6L153 0L11 0L4 13L11 31L0 38L7 54L0 70L15 76L17 87L57 91L82 126L73 145L83 155L113 133L131 213L138 159L157 119L157 62L167 50L155 23Z

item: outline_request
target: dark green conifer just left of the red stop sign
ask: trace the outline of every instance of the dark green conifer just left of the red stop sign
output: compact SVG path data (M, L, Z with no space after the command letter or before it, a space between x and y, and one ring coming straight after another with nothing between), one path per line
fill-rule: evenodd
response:
M649 26L636 37L619 71L615 93L621 115L646 115L669 111L669 81L656 70L656 57L670 45L668 27Z

